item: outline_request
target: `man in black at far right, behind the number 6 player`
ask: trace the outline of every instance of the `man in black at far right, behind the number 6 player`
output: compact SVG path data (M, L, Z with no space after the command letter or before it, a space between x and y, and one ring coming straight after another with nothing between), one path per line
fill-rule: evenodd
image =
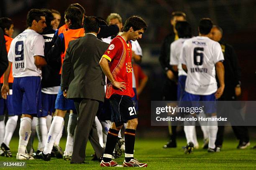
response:
M211 38L220 43L224 55L225 68L225 89L220 101L235 101L241 95L241 68L238 63L238 57L234 48L226 43L221 42L223 30L214 25L211 30ZM219 109L219 108L218 108ZM220 108L222 111L225 108ZM235 114L233 115L235 116ZM232 125L232 122L231 122ZM238 149L245 149L250 145L249 134L246 126L233 126L232 129L239 140ZM218 126L218 134L215 142L216 147L221 148L223 143L224 126Z

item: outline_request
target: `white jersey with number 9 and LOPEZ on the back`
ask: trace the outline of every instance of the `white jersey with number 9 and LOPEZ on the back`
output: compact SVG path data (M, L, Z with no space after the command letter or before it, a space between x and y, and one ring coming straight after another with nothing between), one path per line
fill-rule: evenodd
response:
M24 30L13 39L8 53L8 60L13 62L13 77L41 77L35 55L44 56L44 37L34 30Z

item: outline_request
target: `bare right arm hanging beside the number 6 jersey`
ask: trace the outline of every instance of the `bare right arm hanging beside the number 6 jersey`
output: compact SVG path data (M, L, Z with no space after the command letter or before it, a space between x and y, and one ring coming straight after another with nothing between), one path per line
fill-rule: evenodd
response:
M225 88L225 83L224 83L224 65L221 61L217 62L215 64L217 76L220 82L220 87L218 88L217 92L215 93L216 99L220 98L221 95L223 94L224 88Z

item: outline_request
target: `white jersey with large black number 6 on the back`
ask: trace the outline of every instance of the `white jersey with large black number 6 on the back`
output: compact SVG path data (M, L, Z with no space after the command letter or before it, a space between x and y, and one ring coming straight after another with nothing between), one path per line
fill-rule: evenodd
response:
M181 63L187 65L185 91L194 95L210 95L217 91L215 64L224 60L218 42L208 37L192 37L183 43Z

